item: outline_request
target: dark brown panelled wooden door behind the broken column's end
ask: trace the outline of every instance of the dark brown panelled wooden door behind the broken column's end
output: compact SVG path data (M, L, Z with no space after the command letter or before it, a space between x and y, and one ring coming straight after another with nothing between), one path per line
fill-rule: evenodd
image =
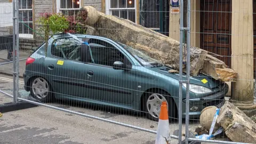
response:
M231 66L231 0L201 0L201 49Z

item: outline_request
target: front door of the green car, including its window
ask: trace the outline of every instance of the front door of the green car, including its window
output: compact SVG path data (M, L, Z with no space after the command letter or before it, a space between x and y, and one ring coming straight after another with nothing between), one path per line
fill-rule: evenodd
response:
M98 38L90 38L88 43L90 50L86 73L90 99L131 104L135 90L135 73L133 70L113 68L115 61L130 63L126 55L115 45Z

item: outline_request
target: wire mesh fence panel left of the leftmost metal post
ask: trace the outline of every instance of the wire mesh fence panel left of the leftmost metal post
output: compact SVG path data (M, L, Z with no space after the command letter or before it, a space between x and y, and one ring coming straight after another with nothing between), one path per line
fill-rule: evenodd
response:
M13 51L13 9L12 3L0 1L0 90L12 94L12 51ZM11 64L10 64L11 63ZM6 64L6 65L5 65ZM10 74L5 77L2 73ZM1 94L0 103L12 102L13 100Z

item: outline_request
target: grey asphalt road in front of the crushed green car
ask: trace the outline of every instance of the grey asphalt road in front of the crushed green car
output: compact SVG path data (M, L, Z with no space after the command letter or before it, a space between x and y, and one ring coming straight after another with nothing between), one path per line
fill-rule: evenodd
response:
M0 75L0 90L12 94L12 77ZM28 98L23 90L23 79L19 82L20 95ZM0 103L12 99L0 93ZM110 119L156 131L157 122L143 116L119 113L111 109L88 108L81 105L70 106L63 101L48 103L79 113ZM189 129L193 132L198 121L190 121ZM170 132L178 129L178 122L170 123ZM183 133L185 123L182 124ZM155 143L155 134L134 130L96 119L66 113L63 111L38 106L35 108L4 113L0 118L0 143ZM171 143L178 143L172 140Z

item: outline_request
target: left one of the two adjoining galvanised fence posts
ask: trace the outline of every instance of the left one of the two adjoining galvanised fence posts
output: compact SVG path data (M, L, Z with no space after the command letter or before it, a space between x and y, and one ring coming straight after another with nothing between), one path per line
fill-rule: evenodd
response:
M179 143L182 141L182 65L183 65L183 0L180 0L180 61L179 61Z

